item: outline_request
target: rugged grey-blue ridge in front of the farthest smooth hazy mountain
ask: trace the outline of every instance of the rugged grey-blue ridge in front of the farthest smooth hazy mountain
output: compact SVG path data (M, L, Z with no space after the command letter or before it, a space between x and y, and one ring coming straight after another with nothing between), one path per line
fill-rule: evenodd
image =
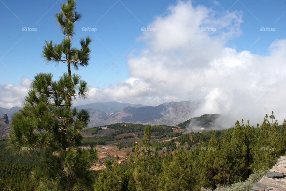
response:
M120 112L103 112L87 110L90 112L89 127L97 127L115 123L136 123L152 125L177 125L191 118L198 103L191 101L169 102L158 106L125 107Z

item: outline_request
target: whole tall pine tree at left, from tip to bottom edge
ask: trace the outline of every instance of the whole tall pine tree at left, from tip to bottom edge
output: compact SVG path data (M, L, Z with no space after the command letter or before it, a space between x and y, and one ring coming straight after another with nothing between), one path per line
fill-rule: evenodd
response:
M62 4L61 9L56 18L66 37L61 44L46 42L43 56L47 61L66 62L68 73L57 81L51 73L35 76L23 109L11 120L9 147L21 153L44 153L41 165L30 175L36 190L89 190L93 180L88 168L97 160L97 152L92 145L88 150L80 148L89 113L72 107L74 100L87 97L88 86L80 76L71 75L70 64L75 69L88 64L90 39L80 40L80 50L70 48L74 22L81 14L74 11L73 0Z

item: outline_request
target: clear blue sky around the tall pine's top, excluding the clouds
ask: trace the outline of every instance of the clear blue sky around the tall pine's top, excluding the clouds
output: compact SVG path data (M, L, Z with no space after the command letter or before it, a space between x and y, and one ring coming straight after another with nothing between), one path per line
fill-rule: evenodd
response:
M1 84L20 84L23 76L32 79L38 72L52 72L56 76L66 72L65 66L46 65L41 58L43 42L59 42L63 35L56 26L54 14L63 1L7 1L1 0ZM223 15L226 10L242 11L243 32L226 46L237 51L268 54L267 48L276 38L285 36L286 4L284 1L192 1L194 6L206 6ZM144 42L137 41L154 17L168 14L176 1L77 1L77 11L83 14L76 23L74 42L89 35L92 56L90 65L77 73L93 87L112 87L129 77L126 56L140 50ZM37 28L36 32L22 31L22 27ZM81 31L82 27L96 28L96 32ZM171 27L171 26L170 26ZM260 31L260 27L275 28L275 32ZM136 43L136 44L135 44ZM77 42L76 45L79 45ZM118 58L119 61L118 61ZM5 65L7 66L5 66ZM112 65L114 65L112 67ZM103 74L105 74L103 76Z

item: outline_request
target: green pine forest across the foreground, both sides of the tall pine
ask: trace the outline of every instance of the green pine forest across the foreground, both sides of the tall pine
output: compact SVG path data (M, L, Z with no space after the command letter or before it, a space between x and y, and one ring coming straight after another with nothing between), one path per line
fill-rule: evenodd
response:
M272 114L271 118L275 116ZM215 189L244 181L254 171L271 168L280 156L285 155L285 128L286 121L278 125L277 121L269 121L266 115L257 127L237 121L234 128L188 133L160 145L150 141L152 126L147 126L127 162L118 164L118 158L107 159L106 169L90 174L93 189L199 191L203 187ZM35 156L39 151L28 157L14 156L5 149L7 140L0 143L1 186L32 190L29 176L39 165L40 159ZM170 153L158 155L162 147L167 147Z

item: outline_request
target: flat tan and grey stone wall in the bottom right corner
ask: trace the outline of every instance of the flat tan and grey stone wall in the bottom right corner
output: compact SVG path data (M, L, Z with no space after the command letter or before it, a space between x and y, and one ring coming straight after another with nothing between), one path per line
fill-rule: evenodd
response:
M273 168L254 184L250 191L286 191L286 156L277 160Z

